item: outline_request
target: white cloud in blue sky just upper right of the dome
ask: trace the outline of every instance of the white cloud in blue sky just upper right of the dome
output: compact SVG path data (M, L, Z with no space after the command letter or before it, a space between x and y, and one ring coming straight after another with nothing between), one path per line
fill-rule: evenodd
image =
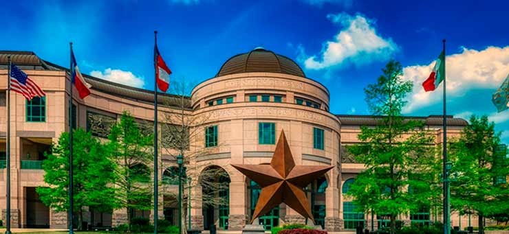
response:
M303 60L307 69L326 69L345 63L363 65L375 60L388 60L399 50L391 38L383 38L376 32L372 19L360 14L352 16L346 13L329 14L327 19L343 28L334 36L334 40L323 43L318 56ZM305 55L303 51L301 55Z

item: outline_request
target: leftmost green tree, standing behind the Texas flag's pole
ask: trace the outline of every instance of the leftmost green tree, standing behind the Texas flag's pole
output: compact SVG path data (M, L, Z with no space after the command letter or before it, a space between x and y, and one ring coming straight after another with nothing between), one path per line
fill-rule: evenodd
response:
M43 162L44 182L49 187L38 187L37 193L48 207L55 211L69 208L69 133L63 132L52 153ZM78 128L73 136L74 212L78 213L78 229L83 221L85 207L111 212L117 208L113 184L114 163L107 157L105 147L89 132Z

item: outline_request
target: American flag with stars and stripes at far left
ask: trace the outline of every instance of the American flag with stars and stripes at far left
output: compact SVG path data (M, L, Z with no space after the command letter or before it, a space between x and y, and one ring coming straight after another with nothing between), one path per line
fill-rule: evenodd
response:
M16 65L10 65L10 89L25 96L28 100L32 100L32 98L36 96L44 97L46 95L46 93L44 93L26 73L16 67Z

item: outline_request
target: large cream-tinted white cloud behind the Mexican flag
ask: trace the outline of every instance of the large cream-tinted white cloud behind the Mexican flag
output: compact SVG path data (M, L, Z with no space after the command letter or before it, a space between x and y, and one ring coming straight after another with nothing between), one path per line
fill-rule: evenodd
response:
M487 47L484 50L462 48L459 54L446 56L447 97L466 98L464 94L472 89L497 89L509 73L509 46ZM437 56L440 51L437 51ZM415 65L403 69L404 79L413 81L413 92L403 113L411 113L419 108L431 106L442 100L442 87L425 92L422 82L428 78L435 62L429 65ZM491 104L487 100L487 104ZM466 102L464 102L466 104ZM468 108L468 106L465 106ZM507 115L507 114L506 114ZM496 115L495 119L499 118Z

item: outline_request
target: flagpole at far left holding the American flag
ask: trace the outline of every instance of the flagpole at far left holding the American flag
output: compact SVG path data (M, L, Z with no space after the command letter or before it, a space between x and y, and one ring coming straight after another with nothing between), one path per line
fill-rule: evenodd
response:
M7 185L6 185L6 220L7 220L7 226L6 226L6 234L10 234L10 56L8 56L9 59L9 68L7 73L7 158L6 158L6 169L7 169Z

